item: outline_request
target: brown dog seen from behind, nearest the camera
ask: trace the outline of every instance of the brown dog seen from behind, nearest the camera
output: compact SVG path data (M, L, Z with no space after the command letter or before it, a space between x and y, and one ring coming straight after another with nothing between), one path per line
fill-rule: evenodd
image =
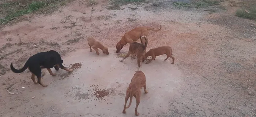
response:
M129 108L132 104L132 97L134 96L136 98L136 107L135 107L135 115L138 116L139 113L137 111L138 106L140 104L140 89L144 88L144 92L148 93L146 89L146 76L142 71L137 71L131 80L131 83L129 84L129 87L126 90L126 96L125 96L125 103L124 103L124 110L123 113L125 112L125 109ZM126 107L127 101L130 98L129 105Z

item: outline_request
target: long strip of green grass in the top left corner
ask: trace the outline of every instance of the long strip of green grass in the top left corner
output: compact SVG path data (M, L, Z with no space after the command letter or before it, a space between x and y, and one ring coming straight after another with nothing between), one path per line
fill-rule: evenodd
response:
M19 16L40 11L41 13L52 12L58 5L64 5L68 0L11 0L0 4L0 14L4 18L0 19L0 24L10 23L18 19Z

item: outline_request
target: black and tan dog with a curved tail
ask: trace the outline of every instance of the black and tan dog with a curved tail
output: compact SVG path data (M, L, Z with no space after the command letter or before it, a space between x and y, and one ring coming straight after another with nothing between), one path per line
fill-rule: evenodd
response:
M52 73L50 68L55 68L59 70L59 68L64 69L68 72L72 72L73 69L68 69L62 65L63 60L60 57L60 54L56 51L47 51L37 53L29 58L22 69L15 69L11 63L11 70L14 73L24 72L27 68L29 68L30 72L32 72L31 79L34 84L39 83L40 85L46 87L48 85L44 85L41 81L42 71L41 69L46 68L50 75L55 76L55 73ZM37 76L37 82L35 81L35 76Z

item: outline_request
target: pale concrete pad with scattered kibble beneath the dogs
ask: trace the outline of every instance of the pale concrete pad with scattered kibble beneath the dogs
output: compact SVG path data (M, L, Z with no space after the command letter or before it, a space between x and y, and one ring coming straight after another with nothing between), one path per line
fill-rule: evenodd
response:
M124 48L122 52L127 52ZM53 81L48 87L41 88L40 93L44 104L54 105L60 113L52 116L82 116L82 117L132 117L135 116L136 100L133 97L132 105L123 114L125 91L131 82L131 78L137 69L136 60L128 57L123 62L118 60L115 49L109 49L109 55L96 55L89 49L70 53L64 59L64 64L82 63L81 68L75 69L62 80ZM177 57L177 56L176 56ZM182 74L177 70L172 59L163 61L166 55L158 56L150 64L142 64L142 72L146 75L147 90L142 90L138 112L141 117L155 116L157 113L167 111L169 102L181 85ZM55 72L55 70L53 70ZM58 71L66 73L66 71ZM60 74L59 74L60 76ZM58 77L59 77L58 76ZM49 84L49 73L44 81ZM105 89L109 95L101 99L95 98L94 87ZM46 98L47 97L47 98ZM39 97L40 98L40 97ZM97 100L96 100L97 99ZM41 99L40 99L41 100ZM129 100L128 100L129 103ZM128 104L127 104L128 105Z

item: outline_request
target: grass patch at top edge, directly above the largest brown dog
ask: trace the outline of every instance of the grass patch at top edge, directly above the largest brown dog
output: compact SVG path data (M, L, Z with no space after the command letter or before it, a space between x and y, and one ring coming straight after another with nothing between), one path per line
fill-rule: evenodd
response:
M144 0L109 0L109 4L111 4L107 9L110 10L117 10L120 9L121 5L126 5L126 4L140 4L144 2Z

